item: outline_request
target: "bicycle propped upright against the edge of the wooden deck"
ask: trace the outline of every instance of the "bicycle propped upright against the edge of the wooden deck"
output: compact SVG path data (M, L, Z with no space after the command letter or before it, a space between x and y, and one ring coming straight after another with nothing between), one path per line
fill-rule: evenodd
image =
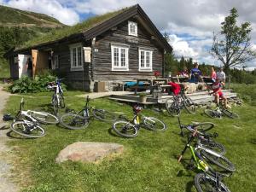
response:
M177 96L173 96L166 100L166 109L172 116L179 116L183 108L185 108L188 113L195 114L195 102L187 97L183 91Z

